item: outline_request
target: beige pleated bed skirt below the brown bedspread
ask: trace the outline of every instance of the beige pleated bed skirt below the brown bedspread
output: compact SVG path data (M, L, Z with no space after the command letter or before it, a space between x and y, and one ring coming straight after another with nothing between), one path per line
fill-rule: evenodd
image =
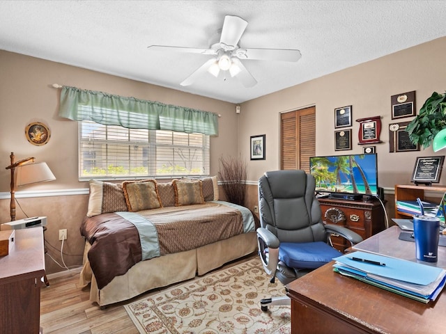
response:
M116 276L102 289L98 289L86 255L90 247L86 242L84 267L79 283L82 286L91 283L90 300L104 306L131 299L157 287L189 280L197 274L201 276L222 267L227 262L253 253L257 249L257 239L256 232L248 232L197 249L141 261L130 268L125 275Z

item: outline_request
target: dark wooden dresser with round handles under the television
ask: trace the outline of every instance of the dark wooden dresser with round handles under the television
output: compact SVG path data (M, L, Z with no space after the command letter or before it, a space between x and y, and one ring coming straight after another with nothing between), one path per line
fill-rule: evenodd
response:
M341 225L360 234L362 239L385 230L385 213L378 199L337 200L319 198L322 220L326 223ZM332 236L334 248L344 253L351 245L342 237Z

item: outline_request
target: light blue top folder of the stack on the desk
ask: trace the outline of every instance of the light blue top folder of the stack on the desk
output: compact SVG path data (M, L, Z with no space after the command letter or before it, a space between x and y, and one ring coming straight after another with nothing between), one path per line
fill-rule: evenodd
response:
M360 257L365 260L385 263L385 266L378 266L367 262L358 262L351 260L352 257ZM364 273L371 273L383 278L390 278L392 280L400 280L406 283L413 283L417 285L429 285L440 276L445 276L446 271L438 267L431 267L426 264L417 262L410 262L407 260L397 259L395 257L387 257L373 253L364 253L356 251L339 257L333 260L346 264L348 267L362 271Z

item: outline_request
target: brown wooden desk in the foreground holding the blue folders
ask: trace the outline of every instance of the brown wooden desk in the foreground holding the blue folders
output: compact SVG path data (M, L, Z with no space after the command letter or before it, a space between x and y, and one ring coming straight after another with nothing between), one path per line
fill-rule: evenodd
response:
M392 226L354 249L415 261L415 243L399 240L399 232ZM287 285L291 333L446 333L446 290L424 304L334 273L332 264ZM445 247L432 265L446 268Z

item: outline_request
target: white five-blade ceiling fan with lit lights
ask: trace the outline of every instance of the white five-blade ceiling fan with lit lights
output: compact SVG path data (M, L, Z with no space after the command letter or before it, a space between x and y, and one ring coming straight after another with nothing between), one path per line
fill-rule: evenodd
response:
M247 25L248 22L241 17L226 15L220 42L211 45L209 49L163 45L151 45L148 48L153 51L178 51L213 56L181 82L181 86L193 84L198 77L206 72L218 77L220 71L229 71L231 77L236 77L243 86L249 88L256 85L257 81L240 60L298 61L300 59L300 51L296 49L245 49L239 47L238 41Z

